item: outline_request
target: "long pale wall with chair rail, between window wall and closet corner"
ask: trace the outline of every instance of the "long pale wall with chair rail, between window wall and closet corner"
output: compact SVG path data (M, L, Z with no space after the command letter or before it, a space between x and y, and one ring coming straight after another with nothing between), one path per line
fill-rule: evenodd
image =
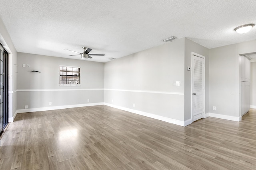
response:
M184 121L184 38L105 63L104 84L108 105Z

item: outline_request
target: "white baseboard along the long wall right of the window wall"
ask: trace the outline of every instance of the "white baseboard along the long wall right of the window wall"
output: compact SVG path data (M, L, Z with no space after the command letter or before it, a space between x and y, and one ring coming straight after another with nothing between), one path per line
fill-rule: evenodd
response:
M153 118L153 119L158 119L158 120L165 121L165 122L168 122L168 123L173 123L175 125L186 126L186 125L189 125L189 124L192 123L192 120L191 120L191 123L190 123L190 119L187 120L187 121L180 121L180 120L171 119L171 118L160 116L160 115L155 115L155 114L152 114L152 113L147 113L147 112L144 112L144 111L129 109L129 108L122 107L122 106L116 106L116 105L113 105L113 104L104 103L104 105L114 107L116 109L128 111L128 112L131 112L131 113L135 113L135 114L138 114L138 115L150 117L150 118Z

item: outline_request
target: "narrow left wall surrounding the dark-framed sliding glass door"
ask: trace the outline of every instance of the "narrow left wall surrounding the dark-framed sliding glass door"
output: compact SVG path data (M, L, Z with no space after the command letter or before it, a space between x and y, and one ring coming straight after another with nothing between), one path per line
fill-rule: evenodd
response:
M16 66L14 65L17 64L17 51L12 43L12 39L10 38L8 31L6 30L6 27L4 26L2 18L0 18L0 42L2 45L4 45L4 48L9 53L9 121L13 121L17 110L17 74Z

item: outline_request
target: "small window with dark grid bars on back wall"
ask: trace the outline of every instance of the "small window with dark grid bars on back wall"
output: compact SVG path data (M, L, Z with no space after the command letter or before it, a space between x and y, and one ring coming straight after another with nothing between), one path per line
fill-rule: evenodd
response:
M80 84L80 67L60 66L60 86Z

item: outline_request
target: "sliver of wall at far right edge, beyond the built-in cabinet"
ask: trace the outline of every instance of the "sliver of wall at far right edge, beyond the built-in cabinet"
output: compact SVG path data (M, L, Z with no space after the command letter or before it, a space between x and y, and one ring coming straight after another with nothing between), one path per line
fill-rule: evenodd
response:
M251 63L251 108L256 109L256 62Z

